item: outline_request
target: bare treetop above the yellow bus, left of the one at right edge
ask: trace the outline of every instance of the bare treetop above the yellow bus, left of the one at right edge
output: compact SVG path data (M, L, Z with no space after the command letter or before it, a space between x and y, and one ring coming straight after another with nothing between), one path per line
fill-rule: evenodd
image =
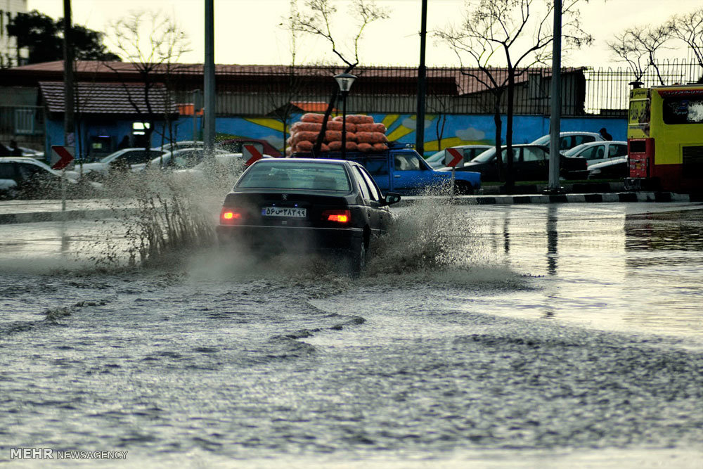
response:
M664 49L664 44L671 39L671 34L670 25L636 26L616 34L614 41L606 41L606 44L615 56L628 64L636 82L642 82L645 73L652 67L659 83L664 84L655 58L659 49Z

